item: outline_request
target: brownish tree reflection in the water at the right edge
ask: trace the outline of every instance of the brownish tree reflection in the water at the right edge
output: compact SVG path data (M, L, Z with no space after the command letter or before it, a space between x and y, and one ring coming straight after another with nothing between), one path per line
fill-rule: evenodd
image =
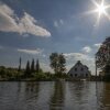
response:
M110 82L103 84L103 90L100 95L100 101L105 110L110 110Z

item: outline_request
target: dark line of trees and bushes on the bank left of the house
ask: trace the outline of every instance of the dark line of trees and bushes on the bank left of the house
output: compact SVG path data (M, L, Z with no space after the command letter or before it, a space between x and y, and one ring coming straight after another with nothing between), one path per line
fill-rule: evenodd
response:
M63 54L52 53L50 66L54 74L43 72L38 59L28 61L25 68L22 68L22 58L19 59L18 68L0 66L0 80L54 80L66 76L66 59Z

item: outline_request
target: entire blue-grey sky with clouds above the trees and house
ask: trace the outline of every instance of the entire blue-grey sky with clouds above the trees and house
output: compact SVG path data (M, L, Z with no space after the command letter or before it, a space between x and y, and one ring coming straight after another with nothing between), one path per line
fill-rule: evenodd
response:
M97 24L98 12L89 12L95 9L92 0L0 0L0 65L18 67L21 57L24 68L38 58L48 72L50 55L57 52L67 72L81 61L95 74L95 54L110 36L110 19L101 15Z

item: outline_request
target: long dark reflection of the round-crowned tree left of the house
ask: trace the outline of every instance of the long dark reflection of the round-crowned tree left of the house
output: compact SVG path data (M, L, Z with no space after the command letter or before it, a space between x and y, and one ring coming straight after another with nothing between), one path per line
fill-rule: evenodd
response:
M55 81L54 94L51 97L50 109L63 110L65 100L65 84L62 81Z

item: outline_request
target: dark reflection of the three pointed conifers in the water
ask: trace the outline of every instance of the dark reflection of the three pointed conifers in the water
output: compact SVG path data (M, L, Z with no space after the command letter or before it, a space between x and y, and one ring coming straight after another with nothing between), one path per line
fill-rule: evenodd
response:
M38 82L34 82L34 81L25 82L25 99L26 100L36 99L38 97L38 91L40 91Z

